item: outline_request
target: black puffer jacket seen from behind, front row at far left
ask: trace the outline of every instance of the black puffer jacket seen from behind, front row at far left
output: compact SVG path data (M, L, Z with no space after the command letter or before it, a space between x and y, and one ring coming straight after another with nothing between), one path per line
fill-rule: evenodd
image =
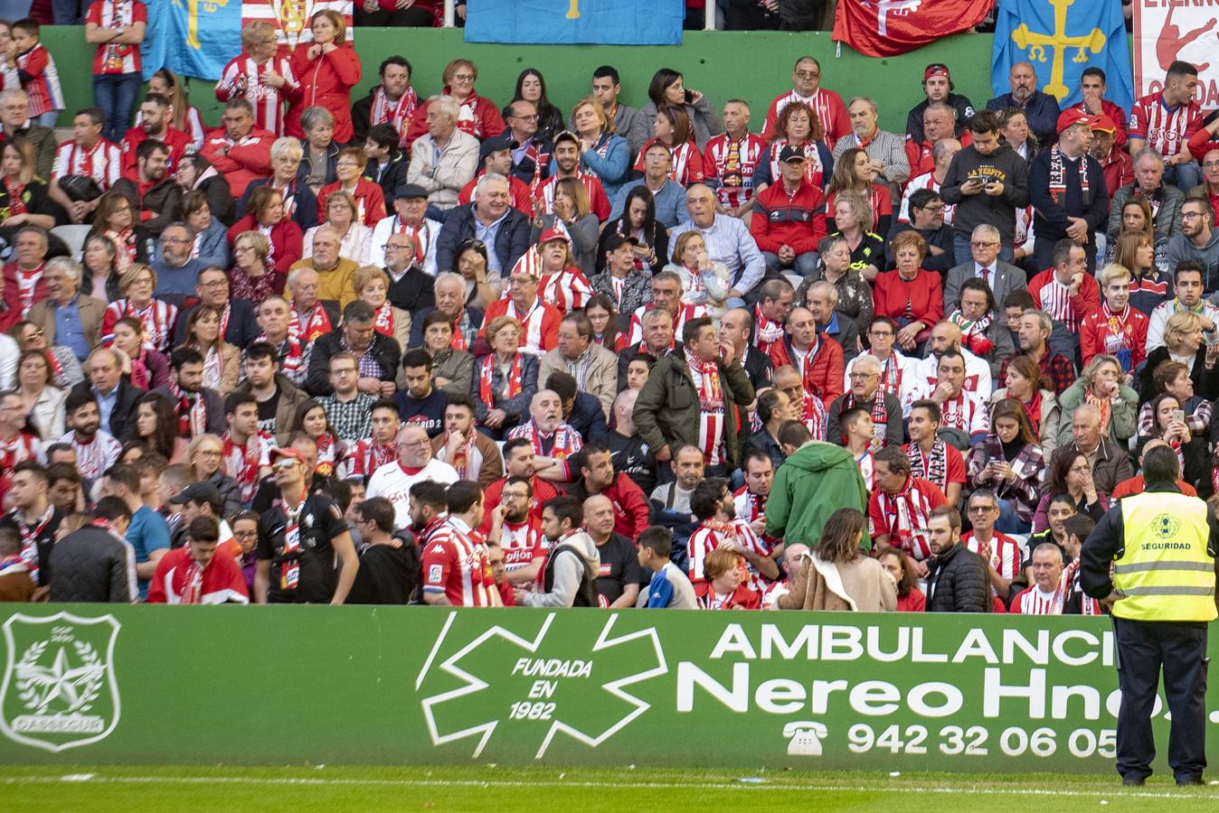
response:
M105 528L85 526L51 549L51 601L134 601L135 550Z

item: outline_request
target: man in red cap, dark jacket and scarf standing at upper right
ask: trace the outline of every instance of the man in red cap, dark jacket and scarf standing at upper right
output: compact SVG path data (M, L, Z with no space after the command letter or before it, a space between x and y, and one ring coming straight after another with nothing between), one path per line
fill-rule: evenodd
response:
M1061 240L1082 246L1089 265L1096 258L1096 230L1109 211L1104 170L1089 155L1092 118L1069 110L1058 118L1058 144L1042 151L1029 166L1029 202L1037 240L1032 260L1045 268Z

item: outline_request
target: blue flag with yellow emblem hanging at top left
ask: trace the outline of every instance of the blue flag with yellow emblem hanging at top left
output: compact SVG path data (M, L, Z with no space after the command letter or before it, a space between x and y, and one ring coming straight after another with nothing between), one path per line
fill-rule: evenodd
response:
M241 0L145 0L144 78L160 67L178 75L219 79L241 52Z

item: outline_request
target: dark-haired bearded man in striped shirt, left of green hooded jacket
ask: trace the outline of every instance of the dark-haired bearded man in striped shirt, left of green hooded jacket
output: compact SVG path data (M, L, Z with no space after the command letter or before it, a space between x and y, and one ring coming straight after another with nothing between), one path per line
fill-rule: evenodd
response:
M736 504L722 477L708 477L695 487L690 495L690 510L700 526L686 543L690 582L705 581L703 562L707 554L719 548L735 550L745 556L750 571L748 588L761 593L766 578L779 578L779 566L770 557L770 549L763 543L748 522L737 518Z

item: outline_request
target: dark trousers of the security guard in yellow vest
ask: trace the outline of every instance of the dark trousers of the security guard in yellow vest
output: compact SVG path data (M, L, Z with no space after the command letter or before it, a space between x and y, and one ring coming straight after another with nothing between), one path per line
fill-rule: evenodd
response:
M1160 668L1173 714L1168 764L1178 781L1202 776L1206 756L1207 624L1191 621L1114 618L1118 646L1118 773L1146 779L1156 758L1151 712Z

